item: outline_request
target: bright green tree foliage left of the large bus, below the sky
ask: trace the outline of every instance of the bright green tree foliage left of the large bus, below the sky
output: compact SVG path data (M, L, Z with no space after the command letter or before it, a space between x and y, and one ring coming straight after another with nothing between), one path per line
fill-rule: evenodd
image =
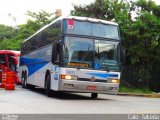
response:
M53 13L45 11L27 11L27 15L31 19L28 19L26 24L17 27L0 25L0 49L20 50L20 45L25 39L54 19Z

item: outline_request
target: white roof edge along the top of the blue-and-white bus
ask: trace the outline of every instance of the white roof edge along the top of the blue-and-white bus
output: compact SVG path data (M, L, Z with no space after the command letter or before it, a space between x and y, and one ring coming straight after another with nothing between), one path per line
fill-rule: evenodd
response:
M101 20L101 19L96 19L96 18L89 18L89 17L79 17L79 16L61 16L55 20L53 20L51 23L45 25L44 27L42 27L41 29L39 29L36 33L34 33L32 36L30 36L29 38L27 38L26 40L24 40L22 43L26 42L28 39L32 38L34 35L38 34L39 32L41 32L42 30L46 29L48 26L52 25L53 23L55 23L58 20L63 20L63 19L72 19L72 20L79 20L79 21L89 21L89 22L93 22L93 23L102 23L102 24L110 24L110 25L115 25L118 26L117 23L115 22L111 22L111 21L106 21L106 20Z

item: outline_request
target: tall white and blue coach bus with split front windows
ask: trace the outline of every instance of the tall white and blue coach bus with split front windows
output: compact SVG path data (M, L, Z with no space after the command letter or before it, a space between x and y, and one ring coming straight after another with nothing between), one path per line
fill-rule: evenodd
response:
M60 17L21 46L22 87L116 94L120 82L118 24L87 17Z

